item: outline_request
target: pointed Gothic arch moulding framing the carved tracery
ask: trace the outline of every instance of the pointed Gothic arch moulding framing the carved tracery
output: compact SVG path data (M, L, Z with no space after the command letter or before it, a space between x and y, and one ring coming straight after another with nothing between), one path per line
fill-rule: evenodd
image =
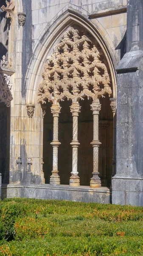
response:
M47 61L48 56L51 55L54 46L60 41L64 31L73 23L83 26L84 29L93 35L103 50L112 77L113 97L116 98L116 76L113 64L116 63L116 60L112 54L113 45L109 36L107 35L107 40L105 42L105 39L102 38L100 33L100 31L103 31L104 29L99 22L95 26L95 24L93 24L83 15L68 9L59 15L56 20L51 20L50 24L48 24L48 26L42 32L42 35L39 36L39 39L34 47L34 53L25 77L27 105L36 105L38 86L42 81L43 66Z

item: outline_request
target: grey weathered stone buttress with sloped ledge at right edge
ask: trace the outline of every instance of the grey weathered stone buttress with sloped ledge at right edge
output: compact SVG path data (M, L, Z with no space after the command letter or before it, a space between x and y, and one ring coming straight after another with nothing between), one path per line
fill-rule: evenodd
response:
M117 172L112 202L143 206L143 2L129 0L127 53L117 67Z

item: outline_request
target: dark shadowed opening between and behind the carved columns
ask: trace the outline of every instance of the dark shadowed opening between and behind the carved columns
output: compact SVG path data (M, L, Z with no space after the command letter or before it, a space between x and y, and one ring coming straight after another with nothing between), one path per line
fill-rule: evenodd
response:
M112 152L113 152L113 114L110 107L109 97L100 99L101 111L99 113L99 172L102 186L110 186L112 175ZM81 113L79 113L78 124L78 172L81 186L90 186L90 178L93 172L93 113L90 110L92 100L87 97L79 102ZM58 170L61 184L69 185L70 172L72 171L72 114L70 113L71 101L64 99L60 102L62 107L59 115L59 146ZM50 143L53 140L53 116L50 112L51 103L47 103L44 117L43 131L43 158L45 183L50 183L50 175L53 162L53 148Z

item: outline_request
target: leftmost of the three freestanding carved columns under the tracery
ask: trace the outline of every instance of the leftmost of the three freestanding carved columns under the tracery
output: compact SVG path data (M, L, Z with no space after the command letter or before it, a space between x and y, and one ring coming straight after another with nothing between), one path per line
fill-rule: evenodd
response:
M60 177L58 171L58 147L61 143L58 140L58 122L59 122L59 113L61 107L60 105L52 105L51 113L53 114L53 141L50 143L53 146L53 171L50 176L50 185L59 185Z

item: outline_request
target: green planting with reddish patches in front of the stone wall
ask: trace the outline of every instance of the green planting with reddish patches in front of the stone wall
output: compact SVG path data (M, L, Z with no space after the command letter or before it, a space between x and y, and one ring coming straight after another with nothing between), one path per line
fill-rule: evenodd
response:
M0 201L0 256L143 256L143 207Z

